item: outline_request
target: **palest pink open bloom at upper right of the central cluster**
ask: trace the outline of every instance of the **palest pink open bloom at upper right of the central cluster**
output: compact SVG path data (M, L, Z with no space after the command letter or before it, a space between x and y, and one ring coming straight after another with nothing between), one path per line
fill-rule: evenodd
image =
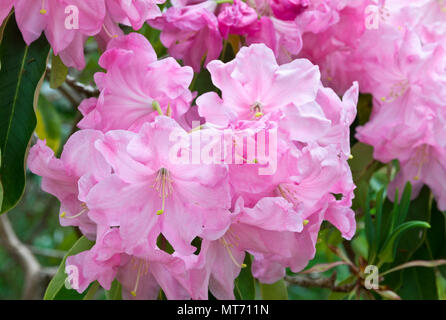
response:
M211 124L227 127L236 120L258 120L280 112L279 126L291 140L300 141L316 139L330 126L315 102L320 74L308 60L279 66L271 49L254 44L242 48L231 62L212 61L208 69L222 98L209 92L197 99L197 105Z

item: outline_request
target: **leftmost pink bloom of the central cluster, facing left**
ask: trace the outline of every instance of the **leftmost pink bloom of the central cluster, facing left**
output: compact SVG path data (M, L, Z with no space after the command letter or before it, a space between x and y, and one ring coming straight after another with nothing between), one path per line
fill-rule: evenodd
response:
M65 144L60 159L54 157L44 141L38 141L28 157L29 169L42 177L42 189L61 203L61 225L79 226L89 237L95 234L96 225L88 218L88 192L111 174L110 166L94 146L101 139L103 134L99 131L76 132Z

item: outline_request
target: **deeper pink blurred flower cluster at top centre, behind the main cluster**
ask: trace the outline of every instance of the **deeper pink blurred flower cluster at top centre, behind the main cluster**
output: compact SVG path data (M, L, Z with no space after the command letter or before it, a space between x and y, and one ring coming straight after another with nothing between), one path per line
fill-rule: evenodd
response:
M305 34L325 31L339 22L341 10L351 10L359 2L178 0L149 23L162 30L161 41L170 55L198 72L203 62L219 57L223 39L235 48L266 44L280 63L290 62L301 51Z

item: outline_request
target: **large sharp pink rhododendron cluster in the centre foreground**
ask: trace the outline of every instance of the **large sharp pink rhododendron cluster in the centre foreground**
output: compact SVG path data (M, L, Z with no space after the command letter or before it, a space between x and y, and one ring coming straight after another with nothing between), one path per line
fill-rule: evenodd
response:
M60 159L40 141L28 160L60 200L61 223L95 240L67 259L78 291L118 279L129 299L160 288L169 299L233 299L247 254L253 275L273 283L314 257L323 221L352 238L357 83L341 99L307 59L279 65L253 44L208 63L221 96L194 105L192 68L157 59L140 34L112 39L99 63L100 95L80 105L81 130Z

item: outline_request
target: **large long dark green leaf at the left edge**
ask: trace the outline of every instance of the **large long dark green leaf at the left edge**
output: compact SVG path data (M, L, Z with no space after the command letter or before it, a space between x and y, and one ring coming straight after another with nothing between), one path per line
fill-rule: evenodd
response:
M0 45L0 213L13 208L23 195L25 157L36 127L34 106L49 50L44 35L27 46L15 19L9 19Z

